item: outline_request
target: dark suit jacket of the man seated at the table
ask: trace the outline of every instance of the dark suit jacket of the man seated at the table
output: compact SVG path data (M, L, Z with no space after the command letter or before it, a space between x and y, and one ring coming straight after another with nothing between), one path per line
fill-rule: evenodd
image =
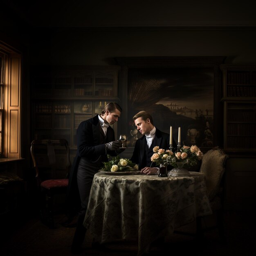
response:
M159 146L159 148L163 148L166 150L166 149L169 149L169 146L170 146L169 143L170 143L170 135L166 132L161 132L156 128L155 138L153 140L153 146L154 147ZM145 146L146 146L146 136L143 135L140 139L137 139L132 157L130 159L133 163L139 164L140 170L146 167L142 165L142 160L145 154ZM177 147L177 145L175 144L173 145L173 147ZM155 163L153 163L151 167L155 167Z

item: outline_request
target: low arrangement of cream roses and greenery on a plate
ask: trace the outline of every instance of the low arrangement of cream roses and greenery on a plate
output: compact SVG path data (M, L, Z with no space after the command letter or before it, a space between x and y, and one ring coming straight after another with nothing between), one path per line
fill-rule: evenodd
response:
M102 171L106 172L125 172L125 171L137 171L138 165L132 163L129 159L120 158L120 156L110 157L108 155L108 162L103 162L104 167Z

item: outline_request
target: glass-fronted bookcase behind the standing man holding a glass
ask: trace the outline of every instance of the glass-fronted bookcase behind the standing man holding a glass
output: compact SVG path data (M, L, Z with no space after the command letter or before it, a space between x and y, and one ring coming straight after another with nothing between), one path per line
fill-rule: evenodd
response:
M76 151L76 130L111 101L120 103L119 66L34 67L31 77L33 139L66 139ZM117 134L117 124L112 126Z

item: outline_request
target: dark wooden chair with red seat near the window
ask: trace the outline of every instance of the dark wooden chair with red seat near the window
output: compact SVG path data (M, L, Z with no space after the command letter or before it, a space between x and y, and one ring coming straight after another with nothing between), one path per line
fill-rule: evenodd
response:
M66 193L70 148L65 139L43 139L33 140L30 152L36 170L40 218L47 226L54 228L54 195Z

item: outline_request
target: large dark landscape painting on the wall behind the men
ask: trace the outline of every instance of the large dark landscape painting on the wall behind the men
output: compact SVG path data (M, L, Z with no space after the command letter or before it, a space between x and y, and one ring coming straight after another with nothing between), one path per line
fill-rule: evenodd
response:
M173 128L177 143L213 146L214 73L211 67L130 68L128 71L128 133L130 146L141 136L132 117L148 111L155 127Z

